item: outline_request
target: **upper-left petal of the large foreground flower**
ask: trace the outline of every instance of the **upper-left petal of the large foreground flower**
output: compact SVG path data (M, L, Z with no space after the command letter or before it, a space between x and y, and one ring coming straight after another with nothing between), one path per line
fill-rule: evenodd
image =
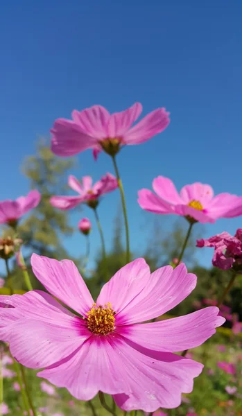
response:
M32 254L31 266L46 290L71 309L85 315L92 308L94 300L73 261Z

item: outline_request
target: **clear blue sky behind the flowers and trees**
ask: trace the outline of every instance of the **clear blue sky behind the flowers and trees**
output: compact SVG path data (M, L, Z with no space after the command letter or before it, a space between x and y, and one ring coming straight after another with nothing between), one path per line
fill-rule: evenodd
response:
M38 136L49 137L58 117L94 104L110 112L140 101L144 114L171 112L161 135L119 155L128 200L132 249L150 237L137 204L137 190L153 177L171 177L180 189L209 183L216 193L242 195L241 96L242 3L234 1L52 0L8 1L1 5L0 141L1 200L28 191L19 165L35 152ZM78 157L76 175L98 179L112 172L107 155L94 162ZM103 200L100 216L110 246L119 193ZM83 216L92 220L87 208ZM170 219L165 217L169 224ZM73 224L78 216L71 216ZM218 220L205 236L234 233L242 218ZM69 250L83 252L76 234ZM99 245L92 234L92 254ZM200 250L209 265L211 250Z

